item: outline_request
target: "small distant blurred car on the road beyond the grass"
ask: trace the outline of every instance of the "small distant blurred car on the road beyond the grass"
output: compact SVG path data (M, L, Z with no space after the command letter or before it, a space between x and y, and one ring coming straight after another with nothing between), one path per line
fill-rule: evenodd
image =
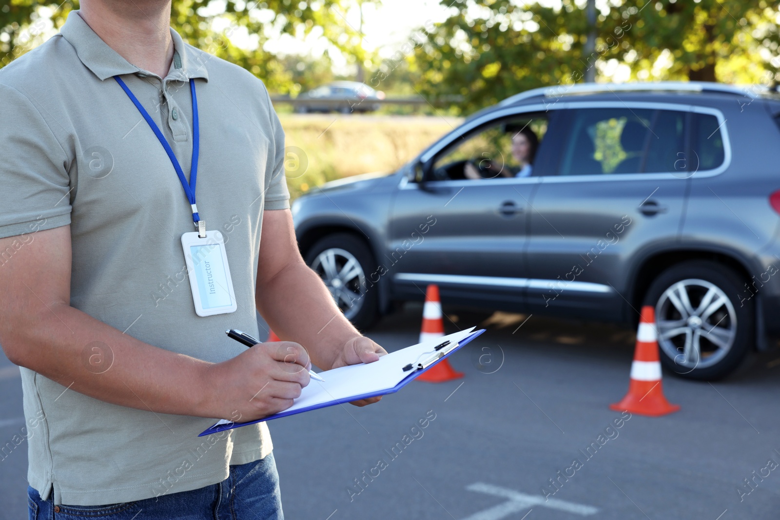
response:
M378 110L381 104L376 101L385 99L385 93L374 90L365 83L356 81L334 81L296 98L296 112L371 112Z

